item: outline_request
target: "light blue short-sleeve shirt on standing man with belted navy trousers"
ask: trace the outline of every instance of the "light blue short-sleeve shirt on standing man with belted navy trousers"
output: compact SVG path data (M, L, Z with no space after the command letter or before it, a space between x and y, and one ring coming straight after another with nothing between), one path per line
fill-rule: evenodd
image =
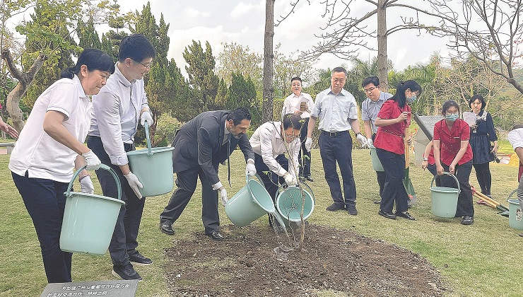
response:
M351 93L342 89L338 95L331 88L316 96L312 117L319 120L318 129L326 132L342 132L351 129L350 120L358 120L358 106Z

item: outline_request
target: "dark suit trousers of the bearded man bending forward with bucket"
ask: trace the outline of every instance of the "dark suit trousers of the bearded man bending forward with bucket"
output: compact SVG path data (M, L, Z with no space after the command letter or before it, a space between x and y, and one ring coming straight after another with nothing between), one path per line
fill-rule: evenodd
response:
M218 163L214 165L218 172ZM220 215L218 214L218 190L213 190L204 171L200 166L189 168L176 173L175 184L177 189L172 193L165 209L160 214L160 223L174 223L184 211L185 206L196 190L198 177L201 182L201 221L204 223L205 233L220 230Z

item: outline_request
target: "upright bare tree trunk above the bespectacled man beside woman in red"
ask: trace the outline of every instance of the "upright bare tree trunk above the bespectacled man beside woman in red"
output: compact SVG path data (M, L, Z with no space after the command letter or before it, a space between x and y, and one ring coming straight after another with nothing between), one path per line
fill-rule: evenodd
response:
M377 76L380 88L389 89L389 59L387 58L387 0L377 1Z

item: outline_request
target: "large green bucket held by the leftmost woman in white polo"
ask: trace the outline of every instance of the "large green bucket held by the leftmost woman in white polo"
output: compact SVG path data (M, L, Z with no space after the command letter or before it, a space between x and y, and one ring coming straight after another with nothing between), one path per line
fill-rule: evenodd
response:
M76 170L67 188L64 219L61 223L60 249L64 252L82 252L104 255L109 248L114 226L125 204L121 200L122 187L114 171L107 165L100 168L108 170L117 183L118 199L96 194L71 192L74 180L81 170Z

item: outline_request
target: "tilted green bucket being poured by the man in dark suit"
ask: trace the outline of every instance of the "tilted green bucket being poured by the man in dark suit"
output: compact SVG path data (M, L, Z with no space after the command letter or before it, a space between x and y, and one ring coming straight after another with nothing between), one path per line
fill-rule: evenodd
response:
M225 204L225 214L236 226L247 226L267 213L275 213L274 202L265 187L254 179L249 179L233 198Z

